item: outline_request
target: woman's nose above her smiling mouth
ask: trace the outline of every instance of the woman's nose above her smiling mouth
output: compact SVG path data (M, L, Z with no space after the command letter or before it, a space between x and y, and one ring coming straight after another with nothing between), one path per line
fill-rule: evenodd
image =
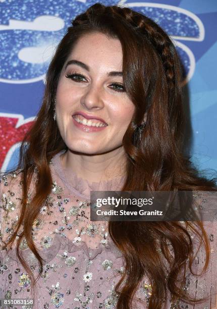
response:
M102 109L104 106L104 102L99 87L97 87L94 84L89 85L85 89L85 93L81 97L81 105L85 107L87 110Z

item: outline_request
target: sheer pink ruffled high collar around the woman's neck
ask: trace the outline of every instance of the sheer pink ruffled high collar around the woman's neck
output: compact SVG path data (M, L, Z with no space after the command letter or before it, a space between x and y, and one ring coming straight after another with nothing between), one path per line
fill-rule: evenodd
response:
M82 198L89 199L90 191L120 191L122 189L125 181L125 177L123 176L108 181L90 183L88 180L78 177L72 171L70 171L69 175L69 171L62 166L60 159L60 156L65 152L65 149L58 152L53 156L50 164L72 194L77 194ZM88 194L85 191L88 192Z

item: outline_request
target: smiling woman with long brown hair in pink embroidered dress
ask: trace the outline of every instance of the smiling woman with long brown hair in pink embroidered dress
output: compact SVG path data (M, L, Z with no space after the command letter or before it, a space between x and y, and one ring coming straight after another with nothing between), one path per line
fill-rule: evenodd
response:
M181 152L181 90L176 48L149 18L95 4L74 19L18 169L2 177L2 298L34 298L34 308L214 306L215 222L90 221L90 190L189 190L195 203L216 191Z

